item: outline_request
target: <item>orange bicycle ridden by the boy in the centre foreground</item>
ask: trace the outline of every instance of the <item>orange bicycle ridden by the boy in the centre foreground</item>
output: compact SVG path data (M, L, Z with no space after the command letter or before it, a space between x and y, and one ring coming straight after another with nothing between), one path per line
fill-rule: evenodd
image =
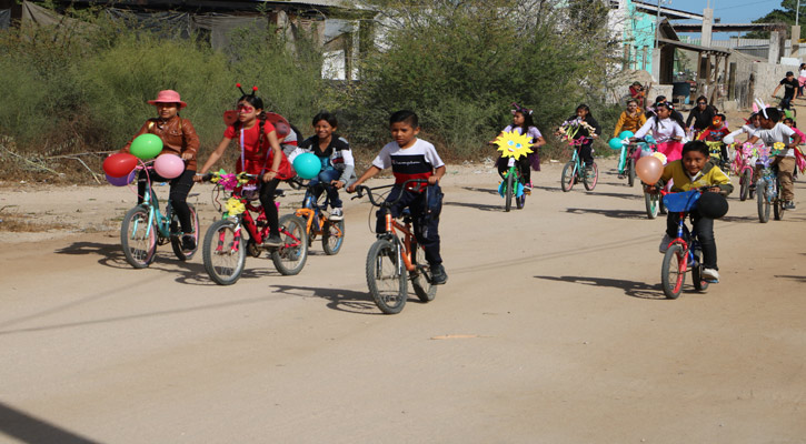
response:
M427 185L428 181L408 180L402 183L402 188L406 189L409 184ZM420 263L418 259L420 249L417 248L417 239L411 228L414 222L411 213L406 209L400 214L400 220L396 220L389 211L404 193L390 202L376 202L372 198L372 191L391 186L394 185L377 188L358 185L356 186L358 195L352 198L359 199L366 192L372 205L386 210L386 231L378 233L378 240L369 248L367 254L367 286L378 309L386 314L400 313L406 305L407 281L411 281L417 297L422 302L432 301L437 295L437 286L431 283L428 264Z

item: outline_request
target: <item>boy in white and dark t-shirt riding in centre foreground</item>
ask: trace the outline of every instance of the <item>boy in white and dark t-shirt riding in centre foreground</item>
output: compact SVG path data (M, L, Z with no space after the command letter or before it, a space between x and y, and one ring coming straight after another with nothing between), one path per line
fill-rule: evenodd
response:
M378 174L381 170L391 168L395 175L395 185L387 202L398 199L402 193L402 198L391 209L391 215L398 218L404 209L411 211L415 225L415 236L417 242L422 245L426 252L426 260L431 269L431 284L441 285L448 282L448 274L442 266L442 256L439 253L439 216L427 214L428 193L436 192L438 195L439 180L445 175L445 162L437 154L437 150L432 144L425 140L417 139L420 132L419 120L412 111L397 111L389 118L389 129L394 142L389 142L380 150L378 157L372 161L372 165L361 174L352 184L347 186L347 192L356 191L356 186L366 182L371 176ZM427 179L428 186L420 184L411 185L404 190L402 184L410 179ZM440 203L441 208L441 203ZM439 214L439 209L430 209L434 214ZM386 213L379 210L375 231L382 233L386 231Z

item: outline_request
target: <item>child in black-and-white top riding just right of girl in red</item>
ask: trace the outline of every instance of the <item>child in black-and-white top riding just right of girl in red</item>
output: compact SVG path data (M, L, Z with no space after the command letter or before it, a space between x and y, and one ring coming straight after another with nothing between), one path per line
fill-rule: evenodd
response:
M299 143L299 148L293 150L288 157L288 161L293 163L293 159L305 152L316 154L321 162L319 175L310 180L311 185L317 183L326 183L328 199L330 201L330 220L342 220L341 199L339 199L339 189L355 180L356 161L352 159L352 151L347 139L336 133L339 122L336 115L322 111L314 117L311 123L315 134ZM319 199L321 190L315 192L315 198Z

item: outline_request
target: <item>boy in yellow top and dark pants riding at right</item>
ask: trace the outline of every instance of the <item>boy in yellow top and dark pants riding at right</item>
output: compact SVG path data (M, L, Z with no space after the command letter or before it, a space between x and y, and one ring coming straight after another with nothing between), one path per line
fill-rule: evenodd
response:
M696 190L703 186L710 186L709 191L722 194L729 194L734 190L730 179L719 170L719 167L709 161L708 145L699 140L686 143L683 147L683 159L669 162L664 168L664 173L658 183L649 186L649 189L663 188L669 179L674 180L671 192ZM714 239L714 219L703 214L700 209L694 209L689 214L703 245L703 276L709 281L719 281L716 241ZM680 213L669 212L666 219L666 233L660 241L659 250L661 253L666 253L669 243L677 236L679 219Z

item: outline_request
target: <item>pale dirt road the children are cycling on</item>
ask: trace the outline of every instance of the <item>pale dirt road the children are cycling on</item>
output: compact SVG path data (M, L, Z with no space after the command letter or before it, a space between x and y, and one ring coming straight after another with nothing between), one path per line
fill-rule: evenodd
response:
M168 245L126 263L128 189L7 183L1 224L58 229L0 231L0 442L806 442L806 186L767 224L732 196L722 282L671 301L665 219L598 163L569 193L545 165L509 213L489 165L450 165L449 281L398 315L367 292L366 201L346 200L338 255L315 244L297 276L248 258L219 286Z

